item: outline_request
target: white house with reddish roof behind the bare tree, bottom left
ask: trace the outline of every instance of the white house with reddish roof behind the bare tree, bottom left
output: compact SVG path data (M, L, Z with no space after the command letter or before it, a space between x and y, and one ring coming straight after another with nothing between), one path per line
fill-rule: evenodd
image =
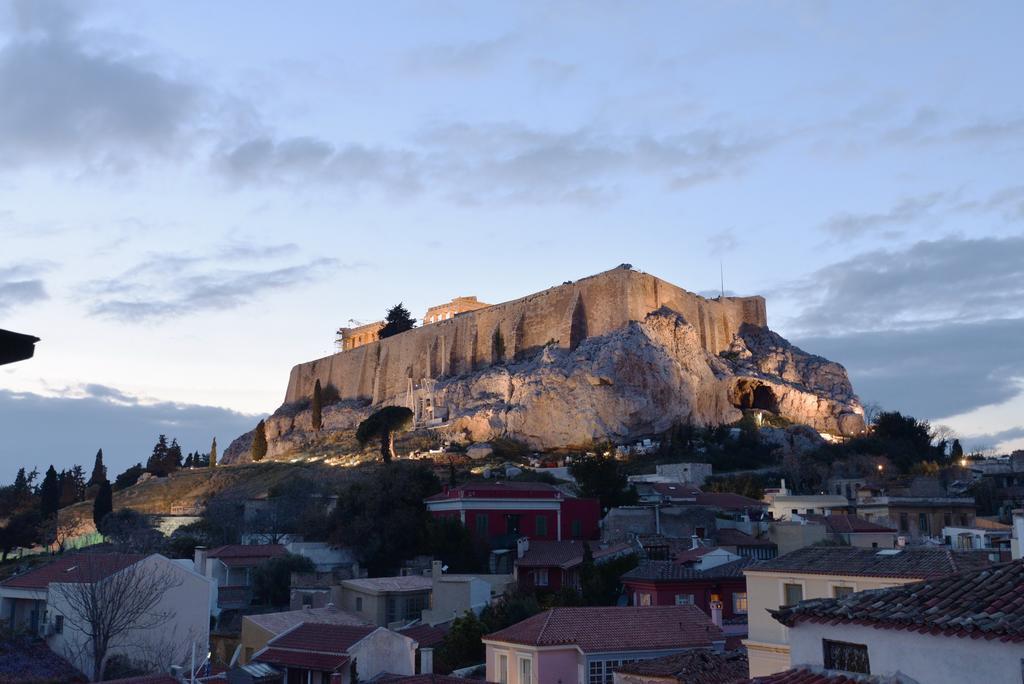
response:
M193 647L203 657L210 642L212 583L190 561L160 554L77 553L15 575L0 584L0 610L12 629L29 629L50 649L88 675L93 671L90 638L81 629L83 588L91 606L111 612L112 603L152 595L155 601L133 619L137 628L117 635L106 658L119 656L154 673L187 665ZM155 590L156 587L164 589ZM134 593L133 593L134 592ZM122 614L128 614L122 609Z

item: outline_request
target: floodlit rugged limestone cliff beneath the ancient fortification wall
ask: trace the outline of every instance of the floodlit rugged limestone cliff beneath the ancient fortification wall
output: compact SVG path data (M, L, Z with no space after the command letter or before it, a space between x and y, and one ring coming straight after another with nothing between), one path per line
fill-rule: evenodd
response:
M459 440L510 437L538 450L625 441L679 422L731 423L741 409L822 432L863 429L863 411L839 364L752 324L739 325L721 353L707 346L698 327L662 306L574 348L553 342L519 360L432 380L430 411L440 416L432 427ZM369 399L333 403L313 432L308 408L286 403L266 421L268 458L350 435L373 409ZM251 435L240 437L224 460L248 460L250 442Z

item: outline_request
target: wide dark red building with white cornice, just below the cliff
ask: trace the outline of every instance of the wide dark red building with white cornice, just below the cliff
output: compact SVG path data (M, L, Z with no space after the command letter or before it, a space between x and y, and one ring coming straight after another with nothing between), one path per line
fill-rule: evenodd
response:
M596 499L574 499L543 482L473 482L444 487L426 500L436 518L456 518L493 546L531 541L560 542L598 538L601 516Z

